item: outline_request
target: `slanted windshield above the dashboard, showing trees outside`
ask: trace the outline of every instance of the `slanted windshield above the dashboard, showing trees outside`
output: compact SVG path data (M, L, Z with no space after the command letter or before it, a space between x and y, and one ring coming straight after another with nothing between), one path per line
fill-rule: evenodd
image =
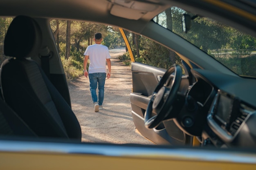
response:
M184 30L182 16L190 20ZM187 15L188 14L188 15ZM183 17L184 20L184 17ZM172 7L153 21L180 35L238 75L256 77L256 39L230 26ZM188 24L187 24L188 25Z

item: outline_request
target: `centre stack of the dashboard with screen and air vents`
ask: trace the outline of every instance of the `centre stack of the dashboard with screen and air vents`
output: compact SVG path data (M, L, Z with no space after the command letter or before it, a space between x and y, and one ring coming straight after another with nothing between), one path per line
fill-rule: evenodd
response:
M253 106L219 90L207 116L207 124L215 134L209 135L210 139L218 144L222 141L223 146L255 146L255 114Z

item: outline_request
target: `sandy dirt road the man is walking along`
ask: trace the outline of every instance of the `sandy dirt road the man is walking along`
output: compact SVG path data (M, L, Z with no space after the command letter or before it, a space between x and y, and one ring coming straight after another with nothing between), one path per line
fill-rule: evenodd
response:
M150 141L135 133L129 95L132 74L117 57L124 49L110 50L111 78L106 79L103 110L94 112L89 79L79 77L69 83L72 109L82 129L83 142L113 144L149 144Z

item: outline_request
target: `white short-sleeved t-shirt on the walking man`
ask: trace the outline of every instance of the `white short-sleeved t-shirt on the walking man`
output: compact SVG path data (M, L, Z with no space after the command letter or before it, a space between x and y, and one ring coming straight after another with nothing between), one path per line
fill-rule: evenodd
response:
M106 59L110 58L108 47L102 44L93 44L87 47L83 55L89 55L88 73L107 73Z

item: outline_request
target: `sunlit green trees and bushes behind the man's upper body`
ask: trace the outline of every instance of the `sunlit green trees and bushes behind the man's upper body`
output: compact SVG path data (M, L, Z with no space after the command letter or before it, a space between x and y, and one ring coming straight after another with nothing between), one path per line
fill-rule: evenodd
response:
M117 27L92 22L72 21L70 56L68 57L68 60L64 60L66 51L67 22L64 20L58 20L59 30L57 30L56 23L56 20L52 20L50 25L54 38L57 40L57 35L59 38L59 41L57 42L59 44L59 54L61 56L61 61L68 81L79 75L83 75L83 53L88 45L94 44L94 33L102 33L102 44L107 45L110 48L115 48L122 43L121 34Z

